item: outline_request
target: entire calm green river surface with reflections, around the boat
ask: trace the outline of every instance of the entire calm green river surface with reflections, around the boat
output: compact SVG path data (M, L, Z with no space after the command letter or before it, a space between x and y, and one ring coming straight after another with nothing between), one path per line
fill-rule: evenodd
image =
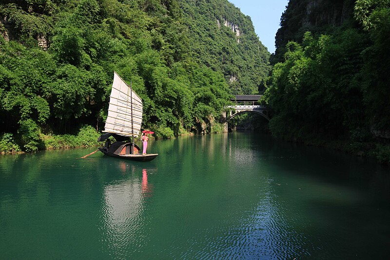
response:
M140 142L138 143L140 145ZM0 156L0 259L388 259L390 171L255 133Z

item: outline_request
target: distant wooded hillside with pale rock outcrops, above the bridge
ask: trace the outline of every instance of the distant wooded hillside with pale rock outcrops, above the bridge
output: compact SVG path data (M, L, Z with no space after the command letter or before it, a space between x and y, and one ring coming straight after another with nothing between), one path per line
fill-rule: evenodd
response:
M250 17L227 0L179 0L200 62L222 71L234 94L254 94L268 75L270 53Z

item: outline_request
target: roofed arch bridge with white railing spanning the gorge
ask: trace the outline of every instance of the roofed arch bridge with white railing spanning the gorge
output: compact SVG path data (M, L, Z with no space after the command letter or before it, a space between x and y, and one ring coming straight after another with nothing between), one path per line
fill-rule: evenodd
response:
M268 117L267 106L257 104L257 101L260 100L261 96L262 95L235 95L234 99L231 99L235 104L228 106L231 110L230 116L226 117L226 119L229 121L236 115L250 112L259 114L269 121L270 118Z

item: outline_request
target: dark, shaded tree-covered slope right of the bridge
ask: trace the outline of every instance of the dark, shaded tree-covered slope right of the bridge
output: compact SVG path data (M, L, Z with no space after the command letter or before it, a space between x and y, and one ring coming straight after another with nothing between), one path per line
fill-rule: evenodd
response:
M331 9L347 15L341 23L303 26L308 2L290 0L282 16L273 61L283 60L274 65L263 97L273 108L272 133L307 142L340 140L352 152L390 161L390 1L318 0L322 14ZM330 2L347 10L337 12Z

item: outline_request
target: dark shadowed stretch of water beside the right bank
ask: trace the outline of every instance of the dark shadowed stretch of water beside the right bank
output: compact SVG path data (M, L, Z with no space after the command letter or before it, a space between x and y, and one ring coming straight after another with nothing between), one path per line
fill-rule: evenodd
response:
M255 139L253 148L278 173L273 176L279 190L274 206L312 243L313 249L301 256L372 258L377 248L383 250L379 256L389 253L389 167L266 137Z

